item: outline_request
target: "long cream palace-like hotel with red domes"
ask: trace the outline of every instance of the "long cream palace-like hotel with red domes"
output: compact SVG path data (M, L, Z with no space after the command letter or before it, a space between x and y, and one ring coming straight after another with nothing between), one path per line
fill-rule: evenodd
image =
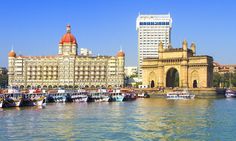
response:
M9 85L18 88L123 87L125 54L116 56L78 55L76 38L67 25L66 34L54 56L8 54Z

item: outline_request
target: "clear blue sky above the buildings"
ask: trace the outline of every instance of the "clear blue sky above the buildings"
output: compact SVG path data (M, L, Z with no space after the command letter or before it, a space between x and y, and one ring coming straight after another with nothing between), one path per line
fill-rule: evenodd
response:
M79 48L110 56L122 46L126 66L137 66L139 13L170 13L173 47L186 39L198 55L236 64L235 0L0 0L0 66L8 66L12 48L17 55L57 54L67 24Z

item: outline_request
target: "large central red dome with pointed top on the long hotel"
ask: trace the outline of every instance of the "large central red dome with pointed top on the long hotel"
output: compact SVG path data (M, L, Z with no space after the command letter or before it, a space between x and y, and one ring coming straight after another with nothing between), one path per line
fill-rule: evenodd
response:
M70 25L66 26L66 30L67 30L67 33L63 35L63 37L61 38L60 44L64 44L64 43L77 44L74 35L71 34L70 32L71 31Z

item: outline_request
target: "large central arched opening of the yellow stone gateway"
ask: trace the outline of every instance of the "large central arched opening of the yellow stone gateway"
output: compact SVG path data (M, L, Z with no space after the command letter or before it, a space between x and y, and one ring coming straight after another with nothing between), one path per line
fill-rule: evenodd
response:
M166 74L166 87L179 87L179 72L171 68Z

